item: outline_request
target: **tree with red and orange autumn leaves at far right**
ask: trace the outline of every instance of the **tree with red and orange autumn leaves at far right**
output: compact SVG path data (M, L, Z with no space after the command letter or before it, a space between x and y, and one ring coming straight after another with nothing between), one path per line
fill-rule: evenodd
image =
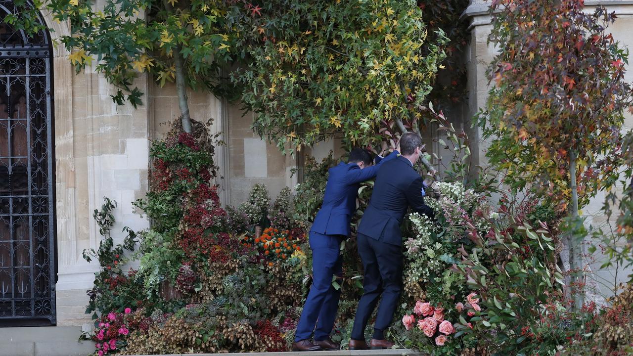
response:
M487 157L506 170L511 188L530 184L578 217L618 175L618 160L605 156L620 150L630 87L628 53L606 32L615 15L584 13L582 1L572 0L495 0L491 9L498 13L489 42L502 50L479 118L491 139ZM572 239L572 270L582 270L581 254Z

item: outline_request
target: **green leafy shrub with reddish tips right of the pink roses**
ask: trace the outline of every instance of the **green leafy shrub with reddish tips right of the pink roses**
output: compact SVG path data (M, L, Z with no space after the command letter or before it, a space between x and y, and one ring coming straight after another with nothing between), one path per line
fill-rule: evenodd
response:
M495 224L484 236L470 227L476 247L457 268L480 296L482 310L470 319L473 329L462 320L457 335L480 340L493 355L531 355L534 343L522 328L541 318L549 296L560 295L563 276L547 225L534 229L517 217L507 219L507 226Z

